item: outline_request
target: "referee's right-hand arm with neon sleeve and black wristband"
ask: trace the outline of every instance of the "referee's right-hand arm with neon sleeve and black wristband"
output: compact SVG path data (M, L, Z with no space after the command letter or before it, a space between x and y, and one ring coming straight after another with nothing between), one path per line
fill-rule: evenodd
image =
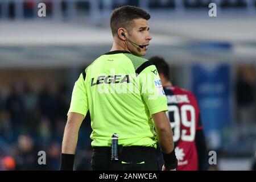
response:
M160 77L155 71L155 65L149 65L138 75L141 83L142 98L147 105L150 115L154 119L156 137L163 153L163 170L176 169L177 159L174 151L172 130L165 112L168 110L167 98Z

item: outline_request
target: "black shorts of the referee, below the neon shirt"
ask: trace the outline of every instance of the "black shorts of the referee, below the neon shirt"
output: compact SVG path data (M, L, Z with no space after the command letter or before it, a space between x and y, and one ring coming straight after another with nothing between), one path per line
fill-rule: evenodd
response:
M93 147L93 171L158 171L154 147L119 147L118 161L111 160L110 147Z

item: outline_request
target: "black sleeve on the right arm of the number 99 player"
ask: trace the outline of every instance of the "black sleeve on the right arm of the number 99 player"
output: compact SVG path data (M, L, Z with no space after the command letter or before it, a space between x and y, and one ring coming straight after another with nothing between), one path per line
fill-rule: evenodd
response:
M201 117L199 117L201 120ZM205 142L204 131L196 130L196 150L198 155L199 171L207 169L207 144Z

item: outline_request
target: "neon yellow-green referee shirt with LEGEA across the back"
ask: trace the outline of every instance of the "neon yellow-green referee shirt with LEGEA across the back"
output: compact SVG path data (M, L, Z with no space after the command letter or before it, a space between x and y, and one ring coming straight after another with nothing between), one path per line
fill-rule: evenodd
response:
M127 51L98 57L81 73L68 113L92 119L92 146L156 146L152 114L167 111L167 99L155 65Z

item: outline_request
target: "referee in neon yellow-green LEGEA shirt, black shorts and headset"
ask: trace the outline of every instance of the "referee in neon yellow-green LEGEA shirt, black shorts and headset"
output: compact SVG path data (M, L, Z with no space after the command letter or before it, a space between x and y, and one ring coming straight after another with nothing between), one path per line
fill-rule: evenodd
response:
M152 39L148 19L146 11L134 6L113 11L112 49L94 60L73 88L61 170L73 170L79 128L88 110L93 170L158 170L157 142L164 157L162 169L176 169L162 83L155 65L141 58Z

